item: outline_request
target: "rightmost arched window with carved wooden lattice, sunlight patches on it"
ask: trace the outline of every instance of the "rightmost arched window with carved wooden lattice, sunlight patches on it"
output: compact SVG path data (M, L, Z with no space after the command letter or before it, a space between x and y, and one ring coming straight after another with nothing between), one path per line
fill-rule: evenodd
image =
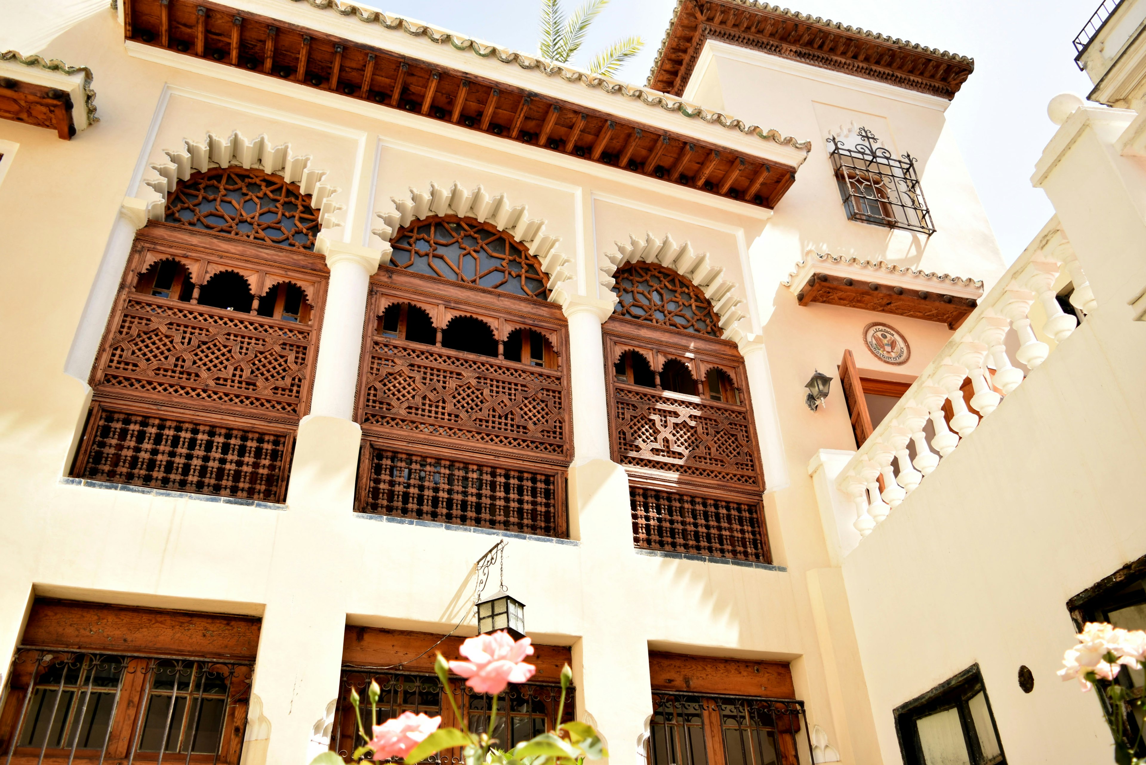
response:
M769 562L744 359L686 278L619 268L605 322L613 459L629 474L637 547Z

